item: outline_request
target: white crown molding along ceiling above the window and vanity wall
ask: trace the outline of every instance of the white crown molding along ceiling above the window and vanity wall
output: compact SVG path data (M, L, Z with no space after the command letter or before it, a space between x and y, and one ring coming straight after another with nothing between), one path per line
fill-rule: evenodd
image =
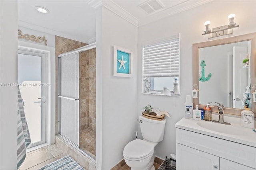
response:
M195 1L197 1L195 3ZM147 18L144 18L143 20L140 20L138 26L146 25L148 23L152 23L154 21L160 20L162 18L166 18L168 16L172 16L175 14L178 14L180 12L184 12L186 10L195 8L197 6L201 6L203 4L212 2L213 0L187 0L185 2L182 2L176 6L172 6L171 8L168 8L166 10L162 10L156 14L150 15Z

